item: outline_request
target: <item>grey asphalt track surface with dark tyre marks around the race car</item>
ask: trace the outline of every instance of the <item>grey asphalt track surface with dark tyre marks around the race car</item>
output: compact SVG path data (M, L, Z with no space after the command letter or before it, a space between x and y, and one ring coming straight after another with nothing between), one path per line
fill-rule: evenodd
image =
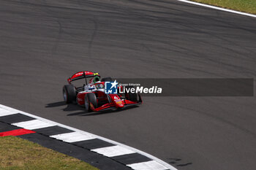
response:
M0 1L0 103L116 140L178 169L255 169L255 97L145 97L88 114L73 72L255 78L256 19L178 1Z

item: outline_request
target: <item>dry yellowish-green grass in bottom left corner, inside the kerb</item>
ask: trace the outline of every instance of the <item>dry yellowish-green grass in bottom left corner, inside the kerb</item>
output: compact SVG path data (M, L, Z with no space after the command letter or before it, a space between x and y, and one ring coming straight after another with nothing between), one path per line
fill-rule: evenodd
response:
M42 147L16 136L0 137L1 170L97 170L77 158Z

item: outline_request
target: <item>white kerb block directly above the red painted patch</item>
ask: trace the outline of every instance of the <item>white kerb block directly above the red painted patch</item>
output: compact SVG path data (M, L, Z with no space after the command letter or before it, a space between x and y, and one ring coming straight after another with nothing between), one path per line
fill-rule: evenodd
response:
M12 123L12 125L16 125L21 128L26 128L29 130L37 129L37 128L46 128L53 125L56 125L54 123L46 123L42 120L29 120L25 122L19 122L19 123Z

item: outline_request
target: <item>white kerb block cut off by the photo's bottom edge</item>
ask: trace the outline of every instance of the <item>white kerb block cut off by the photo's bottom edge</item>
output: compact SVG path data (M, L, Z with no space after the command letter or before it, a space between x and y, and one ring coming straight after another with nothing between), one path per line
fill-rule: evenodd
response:
M160 163L156 161L148 161L142 163L132 163L127 165L132 169L136 170L165 170L165 166L162 166Z

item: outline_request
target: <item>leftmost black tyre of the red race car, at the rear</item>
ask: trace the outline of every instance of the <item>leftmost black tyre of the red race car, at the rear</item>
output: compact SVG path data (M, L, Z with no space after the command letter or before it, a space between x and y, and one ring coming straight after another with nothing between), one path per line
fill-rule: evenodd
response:
M63 98L66 104L70 104L75 101L77 93L74 85L64 85L62 89Z

